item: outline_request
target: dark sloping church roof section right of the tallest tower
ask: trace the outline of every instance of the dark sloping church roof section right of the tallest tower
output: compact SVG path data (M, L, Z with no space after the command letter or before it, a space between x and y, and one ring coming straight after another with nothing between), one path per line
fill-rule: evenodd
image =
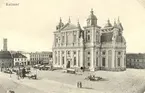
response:
M101 35L101 42L111 42L112 41L113 33L102 33Z

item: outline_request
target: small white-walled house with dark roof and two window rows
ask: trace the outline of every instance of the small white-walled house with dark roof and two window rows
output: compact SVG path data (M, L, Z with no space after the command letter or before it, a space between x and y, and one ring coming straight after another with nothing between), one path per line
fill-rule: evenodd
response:
M28 65L27 57L21 53L12 54L14 66L26 66Z

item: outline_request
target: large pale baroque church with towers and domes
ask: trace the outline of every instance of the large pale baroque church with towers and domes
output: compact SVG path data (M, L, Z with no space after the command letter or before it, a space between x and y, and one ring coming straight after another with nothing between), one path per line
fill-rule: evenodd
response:
M114 25L108 20L104 27L97 24L91 10L87 25L64 24L60 19L54 32L53 66L85 68L86 70L126 70L126 41L123 26L118 19Z

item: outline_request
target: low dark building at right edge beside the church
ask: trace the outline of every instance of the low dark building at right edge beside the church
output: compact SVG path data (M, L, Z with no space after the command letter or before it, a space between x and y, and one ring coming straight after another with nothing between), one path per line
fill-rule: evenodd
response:
M126 59L128 68L145 68L145 54L143 53L128 53Z

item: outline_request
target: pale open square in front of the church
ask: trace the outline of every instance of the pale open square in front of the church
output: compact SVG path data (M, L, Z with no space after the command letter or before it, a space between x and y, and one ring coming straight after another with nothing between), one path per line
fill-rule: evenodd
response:
M63 70L41 71L32 69L37 79L18 79L15 74L0 73L0 93L14 90L15 93L143 93L145 70L127 69L122 72L95 71L79 74ZM99 81L85 79L89 75L102 77ZM77 88L77 82L82 88Z

